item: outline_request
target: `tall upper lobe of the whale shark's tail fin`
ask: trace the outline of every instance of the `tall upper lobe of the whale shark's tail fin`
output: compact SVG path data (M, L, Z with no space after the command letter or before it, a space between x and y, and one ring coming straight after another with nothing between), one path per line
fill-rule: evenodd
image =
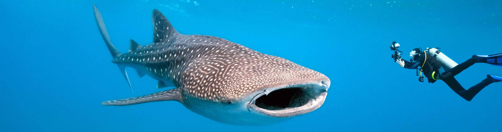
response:
M103 37L106 47L108 47L108 50L110 50L111 56L113 58L120 56L121 53L117 50L117 48L115 48L115 46L113 46L113 44L111 44L110 36L108 36L108 31L106 31L106 26L104 26L104 21L101 17L101 13L99 13L96 5L92 5L94 6L94 18L96 19L97 27L99 28L99 32L101 32L101 37Z

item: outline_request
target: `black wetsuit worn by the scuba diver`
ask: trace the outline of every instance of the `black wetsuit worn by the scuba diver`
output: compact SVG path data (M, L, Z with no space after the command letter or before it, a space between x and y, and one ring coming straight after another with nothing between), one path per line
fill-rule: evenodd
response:
M425 60L425 55L427 55L427 60ZM422 67L422 71L424 72L424 75L428 77L429 82L434 83L436 80L432 79L432 71L439 72L439 78L443 80L450 88L455 91L458 95L463 97L465 100L470 101L481 89L483 89L485 86L488 84L493 83L493 81L489 78L485 78L481 80L481 82L475 84L474 86L470 87L469 89L465 89L458 83L458 81L455 79L455 75L458 73L462 72L464 69L468 68L472 64L478 62L476 55L472 55L471 58L467 59L465 62L462 62L458 64L457 66L445 71L443 68L442 64L436 60L434 56L431 56L429 54L421 54L419 59L416 62L409 62L405 60L405 68L409 69L415 69L418 66L422 66L424 60L429 62L424 64L424 67ZM439 63L439 64L438 64ZM425 69L432 69L432 70L425 70Z

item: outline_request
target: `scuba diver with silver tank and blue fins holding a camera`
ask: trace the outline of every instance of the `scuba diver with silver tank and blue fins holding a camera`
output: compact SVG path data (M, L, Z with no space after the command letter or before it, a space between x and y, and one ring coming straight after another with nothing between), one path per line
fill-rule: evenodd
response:
M411 61L407 61L403 60L400 56L401 53L397 52L399 51L397 49L399 47L399 43L394 41L392 44L391 50L395 50L393 58L399 66L409 69L417 69L417 75L419 75L418 72L420 70L421 77L419 77L419 81L422 82L424 79L424 77L422 77L422 72L427 77L429 83L434 83L438 79L443 80L453 91L455 91L455 93L467 101L470 101L488 84L502 81L502 77L500 76L487 74L485 79L466 90L454 77L474 63L489 63L502 66L502 53L492 55L472 55L472 57L467 59L465 62L457 64L455 61L451 60L439 51L438 48L427 48L424 51L422 51L421 48L415 48L410 52L410 56L412 57L410 59ZM419 66L420 69L418 68Z

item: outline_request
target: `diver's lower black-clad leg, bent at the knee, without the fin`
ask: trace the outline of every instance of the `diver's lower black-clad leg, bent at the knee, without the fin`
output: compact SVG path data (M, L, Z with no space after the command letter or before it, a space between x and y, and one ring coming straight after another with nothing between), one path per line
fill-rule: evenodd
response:
M487 77L487 78L483 79L481 82L479 82L479 83L475 84L474 86L470 87L469 89L465 90L465 88L462 87L462 85L460 85L460 83L458 83L457 79L455 79L455 77L453 77L453 76L448 77L448 78L444 78L443 81L446 82L446 84L448 86L450 86L450 88L453 91L455 91L455 93L457 93L458 95L460 95L461 97L463 97L467 101L470 101L479 91L481 91L481 89L483 89L488 84L491 84L493 82L491 80L491 78Z

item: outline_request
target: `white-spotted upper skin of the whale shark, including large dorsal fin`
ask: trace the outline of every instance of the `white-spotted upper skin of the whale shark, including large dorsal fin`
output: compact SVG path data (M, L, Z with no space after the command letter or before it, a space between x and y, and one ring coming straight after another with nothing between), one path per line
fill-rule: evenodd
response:
M282 57L223 38L179 34L158 10L154 10L153 19L157 42L124 53L112 62L132 65L148 71L153 78L172 81L185 96L226 102L276 82L324 77Z

